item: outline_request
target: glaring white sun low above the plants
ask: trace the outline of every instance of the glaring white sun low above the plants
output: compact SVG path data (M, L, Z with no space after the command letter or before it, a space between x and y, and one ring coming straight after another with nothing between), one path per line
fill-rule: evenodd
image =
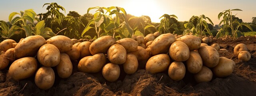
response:
M128 0L124 5L127 14L134 16L146 15L152 22L160 22L160 16L163 15L161 7L157 0Z

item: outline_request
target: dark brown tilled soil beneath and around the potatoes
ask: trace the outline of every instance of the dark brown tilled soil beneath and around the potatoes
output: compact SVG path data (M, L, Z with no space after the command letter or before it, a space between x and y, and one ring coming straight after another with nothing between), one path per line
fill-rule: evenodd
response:
M48 90L39 89L33 76L14 81L8 76L8 68L1 70L0 96L256 96L256 38L214 39L209 45L214 43L229 51L219 54L234 60L236 68L230 76L213 76L210 82L197 84L190 73L180 81L171 80L167 71L151 74L144 69L145 61L140 62L136 73L121 72L116 82L108 82L101 72L78 72L78 62L73 62L72 75L67 79L55 76L54 86ZM239 43L246 44L252 55L248 62L234 56L234 46Z

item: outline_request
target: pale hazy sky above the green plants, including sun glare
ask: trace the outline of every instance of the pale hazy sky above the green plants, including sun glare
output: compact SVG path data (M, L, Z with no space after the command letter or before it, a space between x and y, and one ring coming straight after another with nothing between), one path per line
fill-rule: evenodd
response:
M52 2L66 9L66 13L61 11L65 16L69 11L86 14L90 7L118 6L127 14L150 16L152 22L160 22L159 18L164 14L174 14L178 21L188 21L192 16L204 14L216 25L220 23L218 14L228 9L243 10L232 12L243 22L252 22L252 17L256 17L256 0L0 0L0 20L8 21L10 13L26 9L34 9L36 14L46 13L47 6L42 6ZM95 10L89 13L94 14Z

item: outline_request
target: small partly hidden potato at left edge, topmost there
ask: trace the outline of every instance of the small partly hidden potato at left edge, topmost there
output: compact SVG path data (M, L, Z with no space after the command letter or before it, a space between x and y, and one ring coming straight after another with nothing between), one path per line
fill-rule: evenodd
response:
M3 40L3 41L0 43L0 50L6 52L8 49L14 48L14 47L12 47L12 43L16 43L16 41L14 41L14 40L12 40L12 39Z

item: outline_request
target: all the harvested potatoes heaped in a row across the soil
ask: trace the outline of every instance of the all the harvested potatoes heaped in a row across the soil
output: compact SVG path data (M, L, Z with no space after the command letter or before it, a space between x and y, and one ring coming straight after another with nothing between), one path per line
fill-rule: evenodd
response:
M198 83L209 82L213 75L230 75L234 61L218 54L227 50L220 49L218 44L208 46L210 40L201 43L204 38L193 35L176 38L170 33L155 32L120 40L102 36L93 42L78 42L61 35L48 40L38 35L28 36L18 43L7 39L0 43L0 69L10 62L8 74L14 80L35 76L36 86L43 90L53 86L55 76L68 78L73 66L80 72L102 72L110 82L118 80L121 70L126 74L135 73L141 61L146 61L144 66L152 74L167 70L170 78L177 81L184 78L186 70L194 74ZM249 57L245 51L247 48L242 46L234 49L240 60L248 61L242 57L244 54ZM72 64L75 60L78 65Z

